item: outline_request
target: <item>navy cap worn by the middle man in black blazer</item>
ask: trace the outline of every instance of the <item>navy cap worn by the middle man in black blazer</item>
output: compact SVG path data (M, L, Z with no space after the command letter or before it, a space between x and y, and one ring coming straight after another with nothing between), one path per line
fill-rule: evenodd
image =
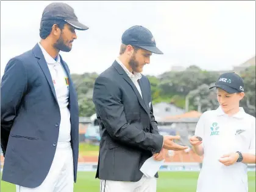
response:
M146 49L152 53L163 54L155 44L155 39L150 30L143 26L133 26L127 29L122 35L122 43L141 49Z

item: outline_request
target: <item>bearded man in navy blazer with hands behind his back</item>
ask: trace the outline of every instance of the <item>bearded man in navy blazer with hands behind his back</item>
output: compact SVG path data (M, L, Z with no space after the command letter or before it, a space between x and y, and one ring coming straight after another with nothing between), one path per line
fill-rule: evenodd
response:
M1 82L2 180L23 192L70 192L76 182L79 108L68 65L75 29L87 30L68 4L43 12L40 43L12 58Z

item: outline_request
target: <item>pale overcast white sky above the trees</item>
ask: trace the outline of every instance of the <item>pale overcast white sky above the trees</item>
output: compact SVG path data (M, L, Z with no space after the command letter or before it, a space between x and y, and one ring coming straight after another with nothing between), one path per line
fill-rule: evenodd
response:
M1 76L10 58L40 41L44 7L55 1L1 1ZM60 2L60 1L58 1ZM77 31L71 52L60 52L71 74L101 73L119 55L123 32L151 30L163 55L143 74L173 66L232 70L255 56L255 1L62 1L90 29Z

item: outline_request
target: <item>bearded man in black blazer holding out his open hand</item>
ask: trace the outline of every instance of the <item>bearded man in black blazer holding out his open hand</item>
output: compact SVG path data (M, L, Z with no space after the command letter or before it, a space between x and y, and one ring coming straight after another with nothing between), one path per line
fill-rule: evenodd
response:
M162 54L152 33L133 26L122 36L119 57L94 84L93 102L100 125L101 143L96 177L105 192L155 192L154 178L140 168L149 157L163 160L164 149L183 150L179 136L158 134L151 86L140 74L152 53Z

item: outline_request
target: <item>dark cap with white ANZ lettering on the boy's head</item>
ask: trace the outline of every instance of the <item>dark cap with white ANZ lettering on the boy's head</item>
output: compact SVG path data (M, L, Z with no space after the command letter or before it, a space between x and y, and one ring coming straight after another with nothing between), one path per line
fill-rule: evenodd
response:
M220 75L215 86L212 86L209 89L212 89L213 87L219 87L229 94L234 94L237 92L244 92L244 81L239 75L235 74L235 72L229 72Z

